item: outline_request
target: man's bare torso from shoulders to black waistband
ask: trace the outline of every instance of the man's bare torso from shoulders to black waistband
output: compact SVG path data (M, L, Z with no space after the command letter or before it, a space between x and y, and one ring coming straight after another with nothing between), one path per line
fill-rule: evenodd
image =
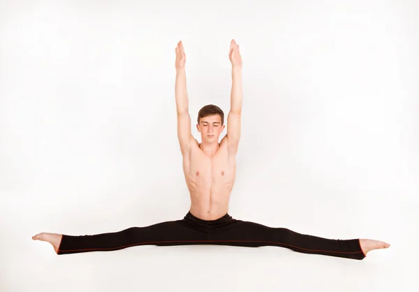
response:
M235 182L235 155L228 153L223 138L213 156L200 149L198 141L184 156L183 169L191 196L190 212L203 220L215 220L228 212L228 201Z

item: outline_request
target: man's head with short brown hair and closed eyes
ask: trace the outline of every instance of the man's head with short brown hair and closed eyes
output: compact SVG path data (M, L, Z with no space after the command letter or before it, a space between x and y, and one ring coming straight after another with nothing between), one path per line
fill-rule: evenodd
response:
M216 105L205 105L198 112L196 129L201 133L201 139L207 143L218 143L224 127L224 112Z

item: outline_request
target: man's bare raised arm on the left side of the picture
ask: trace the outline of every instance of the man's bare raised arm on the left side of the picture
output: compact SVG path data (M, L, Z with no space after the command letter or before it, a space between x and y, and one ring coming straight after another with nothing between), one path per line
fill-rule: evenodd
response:
M176 53L176 83L175 98L177 111L177 138L179 139L182 155L188 154L191 149L191 116L189 115L189 99L186 91L186 55L182 41L177 43Z

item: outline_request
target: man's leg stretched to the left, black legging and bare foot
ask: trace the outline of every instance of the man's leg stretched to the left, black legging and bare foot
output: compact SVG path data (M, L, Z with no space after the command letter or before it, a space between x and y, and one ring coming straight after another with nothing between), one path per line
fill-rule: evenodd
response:
M58 238L61 240L57 241ZM145 244L157 246L205 244L208 233L206 226L199 226L193 221L182 219L95 235L61 236L54 233L40 233L33 239L50 242L57 254L75 254L88 251L114 251Z

